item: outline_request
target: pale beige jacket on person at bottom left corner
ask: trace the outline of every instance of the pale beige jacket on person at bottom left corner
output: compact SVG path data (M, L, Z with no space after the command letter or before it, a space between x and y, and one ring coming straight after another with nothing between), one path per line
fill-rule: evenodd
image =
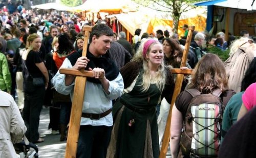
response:
M22 141L26 130L14 99L0 91L0 157L16 157L13 144Z

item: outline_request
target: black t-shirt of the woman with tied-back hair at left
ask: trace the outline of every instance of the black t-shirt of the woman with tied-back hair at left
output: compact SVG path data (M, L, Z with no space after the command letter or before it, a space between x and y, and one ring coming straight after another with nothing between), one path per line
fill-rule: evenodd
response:
M26 66L27 66L29 73L33 77L42 77L43 76L41 71L39 70L39 68L35 65L36 63L41 63L41 62L43 62L43 61L40 58L39 53L31 50L26 59Z

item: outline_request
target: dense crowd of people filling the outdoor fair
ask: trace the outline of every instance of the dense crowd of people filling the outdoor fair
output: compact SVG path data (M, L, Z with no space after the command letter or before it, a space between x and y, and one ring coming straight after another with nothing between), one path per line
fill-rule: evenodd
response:
M147 32L141 35L141 29L136 29L130 42L125 32L113 32L108 19L94 24L64 12L41 16L16 9L9 13L2 11L0 27L0 98L4 96L0 99L0 117L7 119L0 123L6 129L6 134L0 135L0 146L2 142L22 141L23 134L32 143L44 142L38 132L43 106L49 106L52 134L60 134L60 141L67 139L75 76L60 74L59 69L73 68L93 72L85 87L88 93L82 104L76 156L159 156L176 80L170 69L181 68L188 25L182 27L185 34L181 38L167 30L157 30L155 36ZM86 57L82 56L87 42L84 26L93 26ZM226 41L224 31L216 36L193 32L182 69L194 71L184 77L172 111L172 157L197 156L190 150L180 152L187 130L184 123L194 98L187 89L201 94L220 91L223 122L217 134L225 145L218 146L211 156L217 156L221 148L220 155L226 157L225 148L231 148L226 136L229 131L236 134L233 124L247 113L251 115L248 111L256 105L256 44L244 30L240 37L230 35ZM212 47L219 52L230 50L229 57L223 61L210 52Z

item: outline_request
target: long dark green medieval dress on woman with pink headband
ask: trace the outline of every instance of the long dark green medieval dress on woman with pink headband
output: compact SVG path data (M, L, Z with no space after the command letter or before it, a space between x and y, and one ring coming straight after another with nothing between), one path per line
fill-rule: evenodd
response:
M132 91L113 106L114 127L107 157L159 157L156 105L161 91L151 84L142 92L142 74L140 71Z

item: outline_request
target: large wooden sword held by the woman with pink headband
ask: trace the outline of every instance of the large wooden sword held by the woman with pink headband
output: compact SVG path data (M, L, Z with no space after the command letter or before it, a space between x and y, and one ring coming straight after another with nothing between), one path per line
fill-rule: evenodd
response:
M188 27L188 35L187 35L185 49L183 51L183 56L182 56L182 60L181 60L181 65L180 65L181 67L186 66L187 54L188 54L188 50L189 50L189 46L190 46L190 42L191 42L194 30L195 30L195 26ZM172 118L172 109L173 109L175 100L181 91L181 85L182 85L182 81L184 78L184 74L185 75L191 74L192 71L193 71L192 69L186 69L186 70L172 69L171 70L171 72L173 74L177 74L177 77L176 77L176 82L175 82L174 94L173 94L172 102L170 103L169 114L167 117L166 126L165 126L165 130L164 130L164 134L163 134L162 148L160 151L159 158L166 157L166 152L167 152L167 148L168 148L169 141L170 141L170 120Z

